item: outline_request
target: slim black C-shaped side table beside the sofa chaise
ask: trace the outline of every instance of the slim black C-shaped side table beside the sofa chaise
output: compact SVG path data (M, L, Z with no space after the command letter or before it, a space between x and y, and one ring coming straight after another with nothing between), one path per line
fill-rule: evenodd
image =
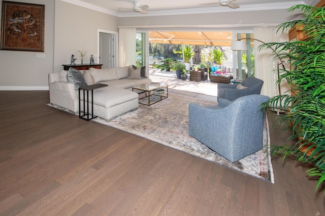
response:
M93 90L99 89L102 87L108 86L107 84L97 83L93 85L87 85L85 87L79 88L79 118L85 119L87 121L96 118L98 116L93 115ZM80 90L83 90L83 112L81 111L81 98L80 98ZM89 91L91 90L91 114L89 113ZM87 111L85 110L86 107L86 100L85 100L85 91L87 91ZM81 113L83 113L81 115ZM91 117L90 117L91 115Z

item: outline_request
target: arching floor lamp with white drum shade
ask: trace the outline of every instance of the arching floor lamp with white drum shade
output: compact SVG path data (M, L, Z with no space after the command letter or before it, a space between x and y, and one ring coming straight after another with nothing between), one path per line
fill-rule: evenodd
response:
M242 40L242 39L252 39L252 40L257 40L259 42L262 42L262 44L266 44L265 42L263 42L262 40L258 40L258 39L255 39L255 38L249 38L249 37L244 37L244 38L240 38L238 40L235 40L232 42L232 50L234 51L248 51L248 47L247 47L247 43L246 41ZM280 62L277 62L277 72L278 72L278 79L280 78L280 70L279 70L279 65L281 64L282 65L282 68L283 70L285 70L285 67L284 67L284 64L280 58L280 56L275 52L275 50L271 47L271 46L268 46L272 51L273 53L278 57L278 59L280 60ZM279 84L278 84L278 88L279 88L279 97L280 97L280 106L279 108L273 108L273 112L276 112L278 114L283 114L285 113L285 110L282 110L282 104L281 104L281 81L279 81Z

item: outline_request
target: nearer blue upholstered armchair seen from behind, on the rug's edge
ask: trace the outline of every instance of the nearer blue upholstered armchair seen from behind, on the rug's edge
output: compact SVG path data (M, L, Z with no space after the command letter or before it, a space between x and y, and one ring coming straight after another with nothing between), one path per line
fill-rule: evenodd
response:
M188 132L221 156L235 162L263 148L264 95L249 95L234 102L220 99L217 106L190 103Z

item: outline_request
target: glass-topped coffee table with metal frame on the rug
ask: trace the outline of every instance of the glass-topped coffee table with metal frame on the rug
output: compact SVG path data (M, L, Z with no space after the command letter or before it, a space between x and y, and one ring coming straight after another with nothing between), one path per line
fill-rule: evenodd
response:
M158 90L164 90L164 92L157 93ZM168 84L166 83L136 85L132 87L132 91L139 94L139 104L147 106L168 98ZM148 98L148 101L146 98Z

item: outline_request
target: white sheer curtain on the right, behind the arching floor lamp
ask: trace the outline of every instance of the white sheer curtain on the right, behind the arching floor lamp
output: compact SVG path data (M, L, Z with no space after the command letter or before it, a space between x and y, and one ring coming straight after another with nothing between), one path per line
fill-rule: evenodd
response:
M273 42L274 27L254 27L254 38L263 42ZM273 97L277 93L275 85L274 60L271 49L257 50L262 43L254 40L255 77L264 81L261 95Z

